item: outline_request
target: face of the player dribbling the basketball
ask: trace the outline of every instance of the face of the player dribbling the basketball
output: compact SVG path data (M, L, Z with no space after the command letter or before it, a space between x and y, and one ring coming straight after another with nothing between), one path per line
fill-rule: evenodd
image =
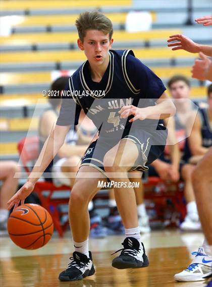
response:
M109 34L105 35L102 31L87 30L84 41L78 39L77 43L79 48L85 51L88 62L100 66L108 59L113 39L110 40Z

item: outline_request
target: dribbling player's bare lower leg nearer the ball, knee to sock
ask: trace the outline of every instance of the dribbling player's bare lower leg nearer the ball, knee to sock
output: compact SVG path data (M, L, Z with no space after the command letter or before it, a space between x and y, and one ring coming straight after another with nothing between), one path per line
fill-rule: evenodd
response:
M86 172L96 174L96 178L80 178L80 174ZM89 236L90 219L88 203L99 190L97 187L99 173L100 171L94 167L81 166L71 191L69 201L69 220L73 240L75 242L84 242Z

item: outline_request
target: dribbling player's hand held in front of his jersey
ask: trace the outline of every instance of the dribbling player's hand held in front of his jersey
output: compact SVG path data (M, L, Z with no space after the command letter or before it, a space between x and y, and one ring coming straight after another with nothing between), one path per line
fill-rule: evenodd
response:
M122 119L126 119L129 116L131 116L131 114L132 114L134 116L134 118L129 120L130 123L134 122L136 120L143 121L147 118L146 108L139 108L139 107L136 107L132 104L123 106L118 112L121 114L120 118L122 118Z

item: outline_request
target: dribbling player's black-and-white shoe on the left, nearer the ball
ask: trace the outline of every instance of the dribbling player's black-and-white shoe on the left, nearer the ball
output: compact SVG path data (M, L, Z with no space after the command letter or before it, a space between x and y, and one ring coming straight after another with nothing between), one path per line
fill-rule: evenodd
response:
M72 261L69 263L68 268L59 275L61 281L76 281L95 273L90 251L89 258L85 254L75 251L70 260Z

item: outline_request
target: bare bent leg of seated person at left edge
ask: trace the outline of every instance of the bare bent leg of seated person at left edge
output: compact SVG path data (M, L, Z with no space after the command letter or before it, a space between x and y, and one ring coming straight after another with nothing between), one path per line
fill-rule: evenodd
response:
M16 173L20 172L20 167L16 161L1 160L0 161L0 235L7 233L7 223L9 210L7 202L16 193L18 188L18 178L14 178Z

